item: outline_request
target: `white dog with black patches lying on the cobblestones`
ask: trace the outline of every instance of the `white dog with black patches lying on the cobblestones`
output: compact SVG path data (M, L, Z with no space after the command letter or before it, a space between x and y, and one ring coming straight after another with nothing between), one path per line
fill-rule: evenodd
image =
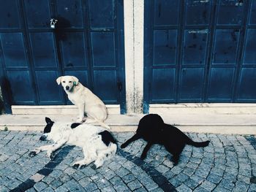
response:
M94 168L102 166L105 160L116 154L116 141L105 128L82 123L54 123L50 118L45 118L47 125L40 140L53 139L53 145L45 145L29 153L37 155L41 151L47 151L49 158L53 152L63 145L76 145L83 148L84 158L75 162L73 166L86 166L94 161Z

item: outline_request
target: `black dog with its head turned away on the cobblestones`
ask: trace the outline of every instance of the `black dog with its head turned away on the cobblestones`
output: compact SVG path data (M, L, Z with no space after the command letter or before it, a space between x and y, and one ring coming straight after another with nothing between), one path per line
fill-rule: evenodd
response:
M165 149L173 155L173 163L178 164L179 155L184 149L185 145L192 145L195 147L206 147L209 141L206 142L193 142L192 139L187 137L182 131L175 126L170 126L162 120L157 114L149 114L144 116L138 125L136 134L124 142L121 148L127 147L129 143L134 142L137 139L143 138L146 140L147 145L143 150L141 159L146 158L151 145L160 144L164 145Z

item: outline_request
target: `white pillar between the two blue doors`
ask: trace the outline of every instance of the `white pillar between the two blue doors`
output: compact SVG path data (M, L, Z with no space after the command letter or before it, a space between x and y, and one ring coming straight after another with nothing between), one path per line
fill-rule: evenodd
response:
M144 0L124 0L127 113L143 112Z

